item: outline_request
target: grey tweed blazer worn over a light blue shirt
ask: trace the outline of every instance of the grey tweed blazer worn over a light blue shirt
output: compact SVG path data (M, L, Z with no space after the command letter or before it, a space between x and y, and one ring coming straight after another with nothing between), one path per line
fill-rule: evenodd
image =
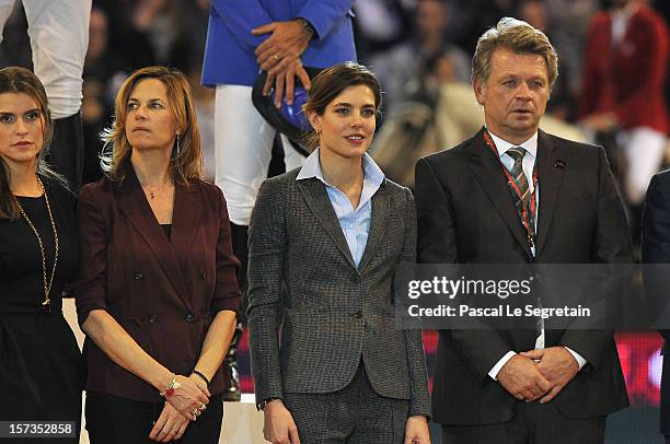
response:
M356 266L325 186L296 180L298 172L267 179L251 218L247 317L256 399L336 392L362 359L379 395L409 400L409 416L429 416L421 331L398 327L392 295L395 266L416 256L412 194L384 179Z

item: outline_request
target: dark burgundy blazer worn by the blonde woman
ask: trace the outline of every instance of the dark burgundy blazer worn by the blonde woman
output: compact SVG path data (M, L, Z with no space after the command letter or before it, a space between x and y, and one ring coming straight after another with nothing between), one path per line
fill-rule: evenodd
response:
M209 325L221 309L238 311L230 225L221 190L201 180L175 185L170 239L128 162L120 185L86 185L79 198L81 268L74 284L79 324L106 309L137 343L176 374L194 369ZM160 401L153 386L115 364L86 338L85 389ZM222 370L210 390L224 389Z

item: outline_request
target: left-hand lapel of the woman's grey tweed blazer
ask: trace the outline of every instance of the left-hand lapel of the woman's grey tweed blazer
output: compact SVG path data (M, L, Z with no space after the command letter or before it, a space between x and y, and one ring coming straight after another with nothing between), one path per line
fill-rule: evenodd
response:
M297 180L297 183L300 192L302 192L302 197L316 220L333 239L333 243L337 249L339 249L339 253L342 253L351 267L356 268L356 262L354 262L354 257L349 250L349 245L347 244L347 239L342 232L342 226L339 226L337 215L335 214L335 210L333 210L333 206L331 205L331 199L328 199L325 185L323 185L323 183L321 183L321 180L317 178L301 179Z

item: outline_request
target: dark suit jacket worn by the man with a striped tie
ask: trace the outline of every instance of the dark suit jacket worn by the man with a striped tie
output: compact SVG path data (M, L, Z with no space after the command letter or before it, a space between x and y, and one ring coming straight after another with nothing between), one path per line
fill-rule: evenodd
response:
M541 264L632 264L628 226L601 148L540 131L538 256ZM416 166L418 261L530 264L525 232L497 155L483 130ZM510 420L518 402L488 376L509 350L532 350L533 329L442 330L432 411L443 424ZM627 406L612 331L547 330L546 347L566 346L588 364L552 401L568 418Z

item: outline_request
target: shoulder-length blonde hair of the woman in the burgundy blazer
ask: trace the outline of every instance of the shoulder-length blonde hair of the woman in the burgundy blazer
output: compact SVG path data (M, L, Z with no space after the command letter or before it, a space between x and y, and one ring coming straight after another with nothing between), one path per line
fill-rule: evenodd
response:
M168 90L168 107L174 115L180 145L177 153L175 143L170 160L173 179L183 185L186 185L188 180L199 179L203 174L203 151L190 86L181 71L166 67L138 69L126 79L116 93L114 121L101 135L105 143L100 157L102 170L113 182L120 183L125 178L124 167L132 151L126 137L126 116L128 114L126 105L135 85L145 79L160 80ZM177 140L176 137L175 140Z

